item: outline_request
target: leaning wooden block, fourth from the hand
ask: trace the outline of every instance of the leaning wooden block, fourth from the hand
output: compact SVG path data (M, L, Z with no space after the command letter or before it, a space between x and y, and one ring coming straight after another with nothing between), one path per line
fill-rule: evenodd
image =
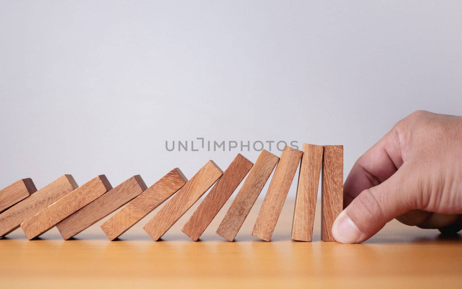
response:
M258 195L265 186L271 172L279 161L279 157L262 150L255 165L242 184L236 198L231 203L225 217L217 229L217 234L232 242L236 238L237 232L249 215Z

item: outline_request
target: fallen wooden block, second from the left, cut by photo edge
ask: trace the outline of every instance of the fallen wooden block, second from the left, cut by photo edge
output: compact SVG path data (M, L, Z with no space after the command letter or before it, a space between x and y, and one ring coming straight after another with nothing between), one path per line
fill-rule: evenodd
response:
M0 237L17 229L22 222L78 187L71 175L63 175L7 209L0 214Z

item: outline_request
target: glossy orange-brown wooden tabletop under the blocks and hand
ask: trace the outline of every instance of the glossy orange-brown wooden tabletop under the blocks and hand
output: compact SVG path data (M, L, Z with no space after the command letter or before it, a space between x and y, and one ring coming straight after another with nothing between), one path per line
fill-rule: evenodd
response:
M287 199L271 242L251 236L258 200L235 242L215 234L228 201L198 242L181 228L197 202L158 242L142 227L151 213L109 241L100 224L64 241L56 228L38 240L21 229L0 240L2 288L461 288L460 235L391 221L363 244L320 241L320 210L313 242L291 240L294 200ZM219 286L219 287L217 287ZM90 288L90 287L89 287Z

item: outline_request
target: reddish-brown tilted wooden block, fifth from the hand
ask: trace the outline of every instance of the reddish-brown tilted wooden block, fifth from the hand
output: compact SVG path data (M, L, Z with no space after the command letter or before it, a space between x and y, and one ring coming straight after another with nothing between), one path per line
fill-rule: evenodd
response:
M182 232L197 241L253 165L242 154L237 154L223 176L184 224Z

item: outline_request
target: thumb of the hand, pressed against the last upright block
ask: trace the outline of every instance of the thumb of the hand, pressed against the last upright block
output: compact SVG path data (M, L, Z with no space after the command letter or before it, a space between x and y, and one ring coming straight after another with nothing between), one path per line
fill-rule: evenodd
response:
M413 209L415 196L409 178L401 167L389 179L358 197L340 213L332 226L332 235L339 243L361 243L376 234L388 221Z

